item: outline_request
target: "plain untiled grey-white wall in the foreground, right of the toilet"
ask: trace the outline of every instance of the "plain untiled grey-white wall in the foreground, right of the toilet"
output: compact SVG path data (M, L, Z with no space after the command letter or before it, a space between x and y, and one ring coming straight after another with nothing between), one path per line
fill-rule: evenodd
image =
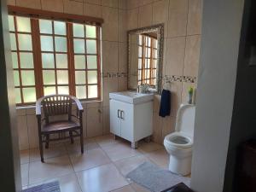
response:
M243 0L205 0L191 187L221 192L236 86Z

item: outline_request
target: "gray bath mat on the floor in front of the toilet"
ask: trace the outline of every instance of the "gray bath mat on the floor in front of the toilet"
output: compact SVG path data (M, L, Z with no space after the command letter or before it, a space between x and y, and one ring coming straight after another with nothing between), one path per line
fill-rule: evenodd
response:
M178 176L167 170L160 169L158 166L154 166L154 164L150 162L144 162L135 170L129 172L126 177L152 192L160 192L170 189L177 183L185 183L188 186L190 185L189 177Z

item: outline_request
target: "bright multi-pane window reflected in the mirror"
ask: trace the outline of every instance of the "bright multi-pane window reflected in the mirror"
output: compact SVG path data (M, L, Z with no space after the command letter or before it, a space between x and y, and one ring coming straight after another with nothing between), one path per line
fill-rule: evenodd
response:
M157 39L139 35L138 45L138 84L155 85Z

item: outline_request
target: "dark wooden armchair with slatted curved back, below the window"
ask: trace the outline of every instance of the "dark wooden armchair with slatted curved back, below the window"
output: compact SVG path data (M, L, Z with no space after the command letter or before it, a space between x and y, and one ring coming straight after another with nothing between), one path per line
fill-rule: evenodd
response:
M76 115L72 113L73 104L77 107ZM41 108L43 108L43 113L41 113ZM80 137L81 153L84 153L83 112L84 109L79 99L74 96L50 95L38 99L36 114L38 118L38 137L42 162L44 162L43 143L45 143L45 148L49 148L50 141L70 138L71 143L73 143L73 137ZM57 116L67 117L61 120L54 120L53 118L57 118ZM58 137L50 138L52 134L58 135Z

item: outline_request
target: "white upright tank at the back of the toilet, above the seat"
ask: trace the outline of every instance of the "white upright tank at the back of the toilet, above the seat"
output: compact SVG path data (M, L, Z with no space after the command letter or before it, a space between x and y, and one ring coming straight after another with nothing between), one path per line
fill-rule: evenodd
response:
M175 131L181 131L193 139L195 128L195 105L182 104L177 110Z

